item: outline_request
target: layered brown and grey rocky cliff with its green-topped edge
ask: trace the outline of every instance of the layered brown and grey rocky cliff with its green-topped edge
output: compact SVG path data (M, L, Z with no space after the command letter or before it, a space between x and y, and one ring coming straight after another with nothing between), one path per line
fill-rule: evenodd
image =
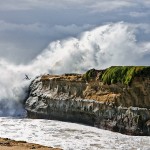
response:
M110 67L83 75L43 75L32 81L25 107L30 118L150 135L150 68Z

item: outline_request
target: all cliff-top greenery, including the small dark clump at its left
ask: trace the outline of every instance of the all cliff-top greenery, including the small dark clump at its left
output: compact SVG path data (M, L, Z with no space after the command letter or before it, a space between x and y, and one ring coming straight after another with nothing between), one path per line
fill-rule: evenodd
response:
M106 70L91 69L84 74L86 80L99 76L104 84L117 82L130 85L134 77L150 77L149 66L112 66Z

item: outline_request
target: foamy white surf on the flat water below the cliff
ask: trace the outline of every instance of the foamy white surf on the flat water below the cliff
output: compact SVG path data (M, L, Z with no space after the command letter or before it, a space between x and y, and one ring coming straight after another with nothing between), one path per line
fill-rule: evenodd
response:
M150 137L127 136L52 120L0 118L0 137L64 150L150 150Z

